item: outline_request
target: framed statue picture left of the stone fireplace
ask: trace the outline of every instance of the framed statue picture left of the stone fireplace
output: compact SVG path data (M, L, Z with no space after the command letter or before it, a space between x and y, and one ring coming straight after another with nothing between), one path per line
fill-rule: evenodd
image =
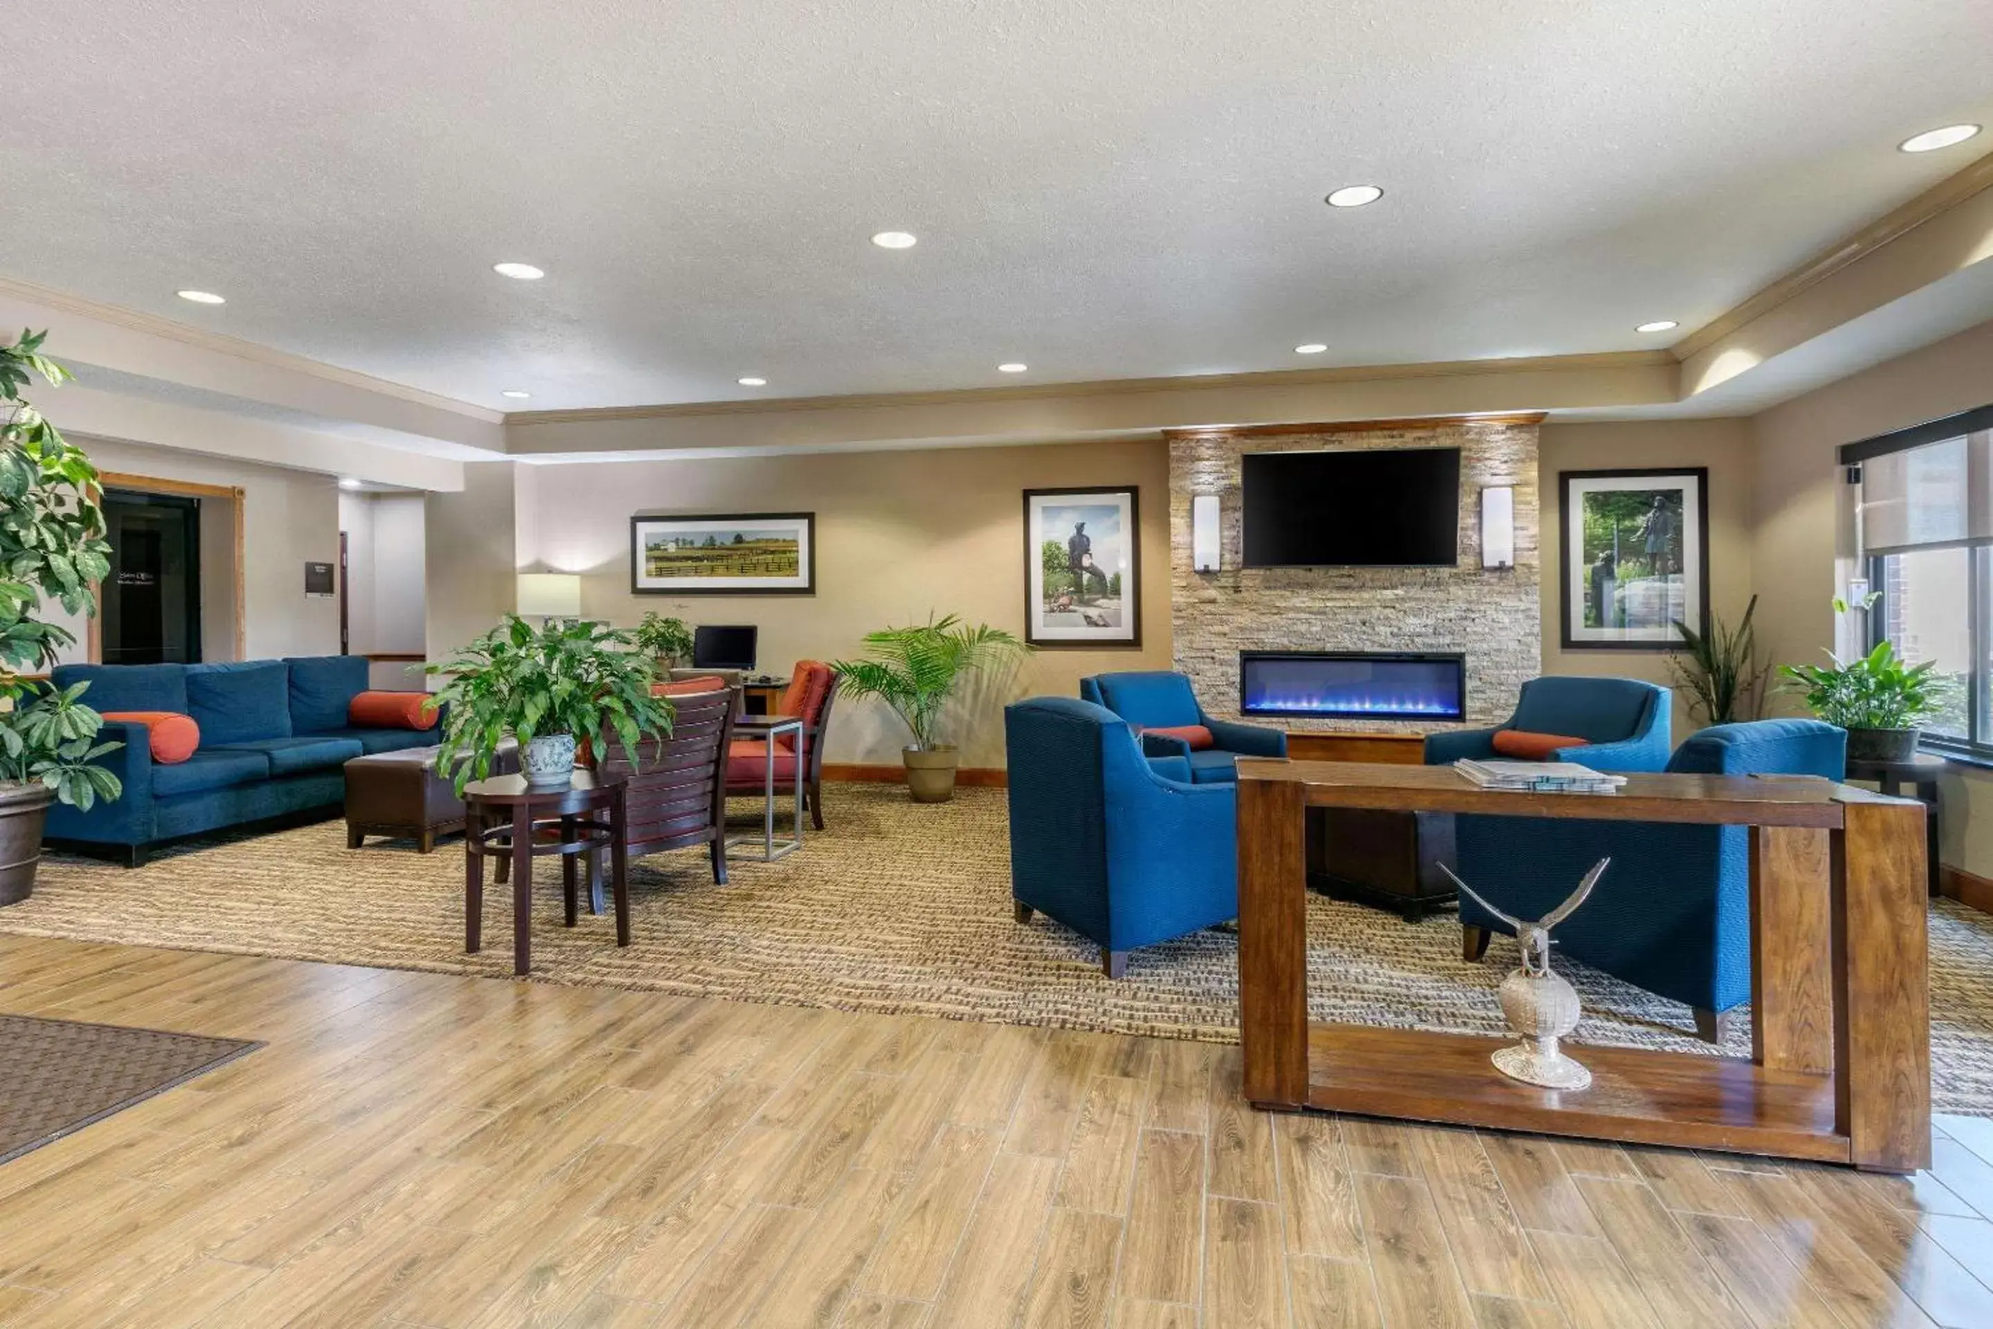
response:
M1142 646L1142 530L1132 484L1024 490L1024 640Z

